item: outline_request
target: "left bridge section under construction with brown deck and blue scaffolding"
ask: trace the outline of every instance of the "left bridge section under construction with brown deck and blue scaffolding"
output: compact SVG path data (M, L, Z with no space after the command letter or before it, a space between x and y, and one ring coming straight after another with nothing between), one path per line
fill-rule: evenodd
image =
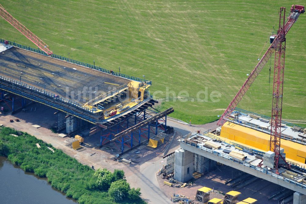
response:
M91 124L90 135L100 133L100 145L116 141L121 152L140 145L142 138L149 140L150 133L157 135L158 129L167 130L166 116L172 108L146 112L157 102L149 93L151 81L2 39L0 51L4 113L25 110L29 102L38 102L56 109L58 130L66 128L66 133L73 134L82 124ZM137 132L137 138L133 131L121 133L129 128Z

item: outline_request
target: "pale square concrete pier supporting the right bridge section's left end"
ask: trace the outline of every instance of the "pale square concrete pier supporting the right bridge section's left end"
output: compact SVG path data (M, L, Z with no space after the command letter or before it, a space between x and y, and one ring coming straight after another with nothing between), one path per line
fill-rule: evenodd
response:
M186 182L192 179L193 153L182 148L175 151L174 179L179 182Z

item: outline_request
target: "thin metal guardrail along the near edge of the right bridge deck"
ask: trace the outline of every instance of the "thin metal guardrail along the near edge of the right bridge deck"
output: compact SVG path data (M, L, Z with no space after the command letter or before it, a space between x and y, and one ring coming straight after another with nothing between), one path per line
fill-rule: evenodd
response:
M203 147L203 146L199 146L199 145L197 145L197 144L194 145L194 143L188 143L187 140L185 140L185 142L184 142L183 140L184 140L184 139L182 139L181 142L184 143L184 144L188 144L188 145L190 145L190 146L194 146L194 147L199 148L199 149L201 149L201 150L204 150L204 151L206 151L206 152L209 152L209 153L212 153L212 154L214 154L214 155L220 156L220 157L225 158L225 159L227 159L227 160L231 160L231 161L233 161L233 162L235 162L235 163L238 163L238 164L244 165L244 166L246 166L246 167L255 169L256 171L260 171L260 172L262 172L262 173L264 173L264 174L271 175L272 177L275 177L275 178L277 178L277 179L281 179L281 180L283 180L283 181L285 181L285 182L288 182L288 183L294 184L295 186L298 186L298 187L301 187L301 188L303 188L303 189L306 189L306 185L305 185L305 184L299 183L299 182L297 182L297 181L295 181L295 180L293 180L293 179L285 178L285 177L283 177L283 176L281 176L281 175L275 174L275 173L272 172L272 171L267 171L267 169L264 169L264 168L260 168L260 167L254 166L254 165L252 165L252 164L250 164L250 163L248 163L248 162L244 162L244 161L240 161L240 160L234 159L233 157L230 157L230 156L228 156L228 155L226 155L226 154L223 154L223 153L221 153L221 152L216 152L216 151L214 151L214 150L205 148L205 147Z

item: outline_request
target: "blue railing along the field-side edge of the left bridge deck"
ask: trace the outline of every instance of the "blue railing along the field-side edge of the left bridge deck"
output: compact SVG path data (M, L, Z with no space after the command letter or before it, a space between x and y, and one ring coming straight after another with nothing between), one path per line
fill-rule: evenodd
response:
M0 43L4 43L4 40L0 39ZM29 51L32 51L32 52L37 52L39 54L48 56L48 54L46 52L43 52L42 50L34 49L34 48L31 48L31 47L28 47L28 46L25 46L25 45L21 45L21 44L17 44L15 42L11 42L11 41L8 41L8 43L10 45L13 45L13 46L18 47L18 48L22 48L22 49L25 49L25 50L29 50ZM114 72L114 71L110 71L110 70L104 69L102 67L94 66L92 64L88 64L88 63L72 60L72 59L69 59L69 58L66 58L66 57L62 57L62 56L59 56L59 55L54 55L54 54L51 54L50 57L53 57L53 58L56 58L56 59L59 59L59 60L65 60L65 61L71 62L73 64L82 65L84 67L88 67L88 68L91 68L91 69L99 70L99 71L105 72L107 74L123 77L123 78L126 78L126 79L131 79L131 80L139 81L139 82L146 82L147 84L152 85L151 81L147 81L145 79L140 79L140 78L137 78L137 77L121 74L121 73Z

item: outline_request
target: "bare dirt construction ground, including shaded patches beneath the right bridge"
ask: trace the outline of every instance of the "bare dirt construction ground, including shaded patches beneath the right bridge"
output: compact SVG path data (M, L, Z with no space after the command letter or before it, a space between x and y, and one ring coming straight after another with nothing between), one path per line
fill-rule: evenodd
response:
M30 110L32 107L33 109L31 112ZM35 107L36 111L34 111ZM66 154L77 159L80 163L89 165L90 167L94 166L95 169L107 168L111 171L114 169L124 170L126 179L130 183L131 187L140 187L142 198L144 198L144 200L149 204L172 203L170 198L174 193L183 194L194 199L196 190L203 186L214 188L216 192L211 194L211 198L222 198L222 193L231 190L224 184L225 181L230 179L232 176L232 174L229 173L231 172L231 168L227 166L218 166L215 171L197 179L193 186L177 188L163 185L164 179L160 176L155 176L157 171L159 171L163 165L166 165L166 159L162 159L162 157L156 154L162 152L162 146L158 147L155 151L149 151L143 145L138 148L140 153L136 154L135 151L131 151L125 154L124 157L126 159L137 160L139 162L132 164L113 161L112 158L115 154L119 153L119 151L113 152L111 149L107 150L105 147L101 148L102 150L96 148L95 144L99 144L99 137L97 136L84 137L84 143L87 143L90 146L86 147L82 152L77 152L76 150L65 146L65 140L67 137L62 138L58 136L58 133L51 132L50 128L54 126L57 121L57 116L54 115L54 112L56 111L52 108L35 103L28 106L26 112L19 112L14 115L0 114L0 123L7 127L34 135L38 139L52 144L55 148L61 149ZM19 122L15 121L17 118L20 119ZM10 119L13 119L14 122L10 122ZM39 125L41 127L35 128L32 125ZM170 120L167 121L167 125L173 126L176 130L176 138L171 144L168 153L174 152L179 147L179 142L177 141L179 137L188 134L191 131L196 131L197 129L206 131L207 129L214 129L217 127L215 122L206 125L189 126ZM139 156L139 158L136 159L136 156ZM257 179L256 182L238 190L242 193L239 198L244 199L252 197L258 199L258 203L276 204L278 203L277 201L267 201L267 197L271 196L275 189L280 189L280 187L265 180ZM220 191L221 193L217 193L217 191Z

